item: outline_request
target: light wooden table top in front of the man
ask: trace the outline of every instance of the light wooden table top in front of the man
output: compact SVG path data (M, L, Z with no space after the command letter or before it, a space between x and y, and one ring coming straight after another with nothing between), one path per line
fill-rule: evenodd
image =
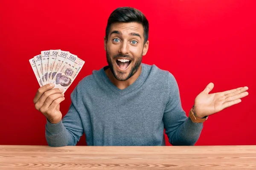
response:
M0 145L0 170L256 170L256 145L27 146Z

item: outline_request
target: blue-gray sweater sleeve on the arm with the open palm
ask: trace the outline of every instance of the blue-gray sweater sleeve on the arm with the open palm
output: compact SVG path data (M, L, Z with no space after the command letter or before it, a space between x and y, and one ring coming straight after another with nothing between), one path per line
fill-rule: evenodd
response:
M165 133L172 145L194 145L203 128L203 123L194 123L186 116L181 106L180 92L175 77L169 73L169 100L163 114Z

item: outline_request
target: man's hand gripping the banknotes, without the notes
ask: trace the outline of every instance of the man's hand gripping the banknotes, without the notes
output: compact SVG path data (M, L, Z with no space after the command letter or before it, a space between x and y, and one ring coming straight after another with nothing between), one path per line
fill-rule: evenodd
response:
M35 108L53 124L62 118L60 103L65 99L62 92L62 89L54 88L54 84L50 83L39 88L33 100Z

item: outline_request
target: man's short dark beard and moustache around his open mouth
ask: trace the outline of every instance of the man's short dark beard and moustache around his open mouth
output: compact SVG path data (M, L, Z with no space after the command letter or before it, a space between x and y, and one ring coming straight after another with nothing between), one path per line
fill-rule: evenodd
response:
M126 80L130 79L130 77L132 77L138 71L138 69L140 68L141 62L142 62L142 54L141 54L141 57L137 60L137 62L135 62L134 66L131 68L131 72L129 73L129 75L126 78L121 78L121 77L117 77L116 72L113 70L113 64L115 64L115 63L111 62L111 57L109 56L108 51L106 51L106 56L107 56L108 66L109 66L112 74L119 81L126 81ZM122 54L117 54L113 58L115 59L116 57L131 58L129 55L122 55ZM119 74L123 74L123 73L119 71Z

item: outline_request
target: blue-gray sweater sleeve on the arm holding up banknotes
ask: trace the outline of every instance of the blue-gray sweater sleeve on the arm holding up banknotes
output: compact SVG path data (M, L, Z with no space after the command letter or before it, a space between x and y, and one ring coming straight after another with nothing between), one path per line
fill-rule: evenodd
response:
M67 114L57 123L52 124L47 120L45 136L49 146L60 147L76 145L84 133L81 117L78 111L77 87L71 94L71 105ZM81 100L80 100L81 101Z

